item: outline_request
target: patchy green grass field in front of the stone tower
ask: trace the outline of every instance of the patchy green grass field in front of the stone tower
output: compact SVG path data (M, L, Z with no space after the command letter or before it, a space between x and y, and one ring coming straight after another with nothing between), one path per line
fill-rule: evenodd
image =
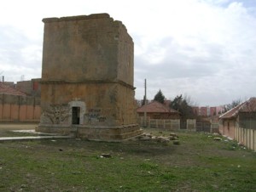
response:
M180 145L142 140L2 142L0 191L255 191L255 152L225 138L215 141L212 134L177 135Z

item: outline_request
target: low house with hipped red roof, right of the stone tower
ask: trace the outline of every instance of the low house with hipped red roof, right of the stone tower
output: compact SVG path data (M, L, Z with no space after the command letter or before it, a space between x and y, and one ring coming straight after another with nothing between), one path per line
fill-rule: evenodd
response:
M138 116L144 116L145 113L150 119L180 119L180 113L177 110L172 110L158 101L152 101L137 108Z

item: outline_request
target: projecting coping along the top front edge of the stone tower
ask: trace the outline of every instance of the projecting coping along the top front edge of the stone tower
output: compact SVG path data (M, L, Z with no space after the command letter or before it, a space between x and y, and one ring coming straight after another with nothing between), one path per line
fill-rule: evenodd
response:
M57 18L57 17L44 18L42 21L44 23L51 23L51 22L60 22L60 21L68 21L68 20L90 20L90 19L102 19L102 18L110 18L110 16L109 16L109 14L105 14L105 13L104 14L90 14L90 15L60 17L60 18Z

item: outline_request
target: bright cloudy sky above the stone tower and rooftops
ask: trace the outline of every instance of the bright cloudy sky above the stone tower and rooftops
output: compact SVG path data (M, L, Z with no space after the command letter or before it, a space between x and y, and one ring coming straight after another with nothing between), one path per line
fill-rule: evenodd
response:
M108 13L135 44L136 98L161 89L198 105L256 97L255 0L9 0L0 5L0 76L41 76L43 18Z

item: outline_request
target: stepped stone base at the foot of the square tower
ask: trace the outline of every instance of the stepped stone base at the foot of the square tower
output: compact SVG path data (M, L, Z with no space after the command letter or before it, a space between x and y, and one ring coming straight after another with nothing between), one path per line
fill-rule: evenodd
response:
M37 132L59 133L62 135L73 135L76 138L87 138L89 140L99 141L121 141L128 138L134 138L143 134L143 130L137 124L122 126L89 126L72 125L67 126L42 126L36 127Z

